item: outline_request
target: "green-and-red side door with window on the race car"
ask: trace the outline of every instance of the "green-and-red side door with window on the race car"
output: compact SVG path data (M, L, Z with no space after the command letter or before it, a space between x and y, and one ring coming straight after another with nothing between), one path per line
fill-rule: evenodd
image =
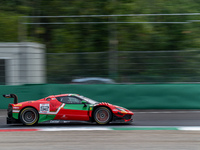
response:
M82 104L82 99L76 96L66 96L60 98L60 102L65 106L60 111L60 119L62 120L89 120L89 105Z

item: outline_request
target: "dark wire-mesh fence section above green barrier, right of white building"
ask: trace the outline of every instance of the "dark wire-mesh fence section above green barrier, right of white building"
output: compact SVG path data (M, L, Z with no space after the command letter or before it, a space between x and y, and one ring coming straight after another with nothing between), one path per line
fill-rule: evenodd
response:
M47 83L70 83L84 77L104 77L116 83L200 81L200 51L118 51L47 53Z

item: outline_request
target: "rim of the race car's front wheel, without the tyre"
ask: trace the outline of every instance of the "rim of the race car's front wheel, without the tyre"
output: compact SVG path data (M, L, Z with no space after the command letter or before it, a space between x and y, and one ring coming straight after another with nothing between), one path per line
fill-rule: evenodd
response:
M110 114L108 110L105 109L99 109L96 112L96 120L100 123L105 123L109 120Z

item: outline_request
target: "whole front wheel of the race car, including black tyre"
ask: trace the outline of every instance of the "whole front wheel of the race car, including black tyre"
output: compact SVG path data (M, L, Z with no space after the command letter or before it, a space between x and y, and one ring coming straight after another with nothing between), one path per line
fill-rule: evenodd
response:
M112 113L107 107L98 107L94 111L94 120L98 124L108 124L111 121Z

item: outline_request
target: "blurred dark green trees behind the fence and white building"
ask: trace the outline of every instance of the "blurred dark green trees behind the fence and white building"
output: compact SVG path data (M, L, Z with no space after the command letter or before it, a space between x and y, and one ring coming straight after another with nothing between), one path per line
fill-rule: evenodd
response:
M172 14L200 12L198 0L2 0L0 1L0 41L17 42L20 16L68 16L110 14ZM121 22L187 22L199 16L138 16L117 17ZM106 22L110 17L93 18L35 18L27 22ZM73 55L69 59L49 55L48 82L70 82L74 77L102 76L119 82L184 82L199 81L199 23L187 24L73 24L28 25L27 41L47 46L47 53L109 52L110 43L117 43L118 52L126 51L191 51L191 53L119 53L118 71L109 73L109 59L105 55ZM112 31L116 41L112 41ZM162 57L162 56L167 57ZM187 56L187 57L186 57ZM191 56L191 57L188 57ZM194 57L195 56L195 57ZM102 58L103 63L101 59ZM64 60L65 59L65 60ZM51 62L50 62L51 61ZM76 64L69 66L67 64ZM90 66L89 64L98 64ZM88 64L88 65L87 65ZM83 69L84 68L84 69ZM99 69L101 68L101 69ZM176 69L178 68L178 69ZM71 72L71 70L76 70ZM93 72L91 72L93 69ZM77 71L78 70L78 71ZM61 76L55 75L59 72ZM69 73L70 72L70 73ZM138 77L143 77L142 79ZM174 77L173 79L170 77Z

